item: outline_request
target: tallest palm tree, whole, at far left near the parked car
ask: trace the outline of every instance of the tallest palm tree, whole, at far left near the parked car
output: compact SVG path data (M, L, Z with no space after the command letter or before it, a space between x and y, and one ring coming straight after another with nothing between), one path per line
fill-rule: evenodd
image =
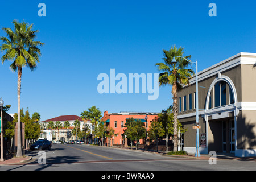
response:
M13 21L14 31L11 28L2 28L6 37L0 37L3 44L0 46L1 51L6 51L2 56L2 64L7 61L13 61L10 68L12 71L18 72L18 143L17 143L17 156L22 156L22 144L20 135L20 87L22 68L28 67L31 71L39 63L39 56L41 51L38 46L43 46L43 43L35 41L36 33L38 30L32 30L33 24L25 22L19 23L17 20Z

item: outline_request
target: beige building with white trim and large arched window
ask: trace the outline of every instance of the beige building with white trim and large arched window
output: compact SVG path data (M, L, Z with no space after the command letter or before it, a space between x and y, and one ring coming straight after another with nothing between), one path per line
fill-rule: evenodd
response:
M200 64L200 61L199 61ZM198 73L199 151L256 156L256 53L241 52ZM188 129L184 151L196 151L196 82L177 93L178 119Z

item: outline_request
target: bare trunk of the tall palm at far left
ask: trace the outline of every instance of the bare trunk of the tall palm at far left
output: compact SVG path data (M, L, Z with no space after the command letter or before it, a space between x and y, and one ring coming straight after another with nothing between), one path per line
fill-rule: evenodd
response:
M22 139L20 134L20 89L21 89L22 67L18 67L18 130L17 130L17 157L22 156Z

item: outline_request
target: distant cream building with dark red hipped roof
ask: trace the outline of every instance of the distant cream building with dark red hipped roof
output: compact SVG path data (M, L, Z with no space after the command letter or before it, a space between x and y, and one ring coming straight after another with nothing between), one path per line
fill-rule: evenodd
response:
M89 125L90 129L92 130L92 123L90 123L90 120L84 121L84 119L82 119L81 117L79 117L77 115L61 115L59 117L47 119L45 121L40 122L40 125L43 128L43 130L41 131L41 134L40 134L40 138L46 138L47 140L51 140L53 142L57 141L58 139L63 142L69 141L69 140L75 140L76 137L75 137L75 135L71 134L71 131L75 128L74 122L76 120L80 121L80 130L84 129L85 123L87 125ZM63 127L61 129L59 129L59 133L58 133L57 129L49 130L47 128L47 125L50 121L53 121L54 123L56 121L61 122ZM69 123L70 123L70 126L68 129L64 128L65 121L69 121ZM70 133L70 137L69 137L69 133ZM78 137L77 137L77 139L78 139Z

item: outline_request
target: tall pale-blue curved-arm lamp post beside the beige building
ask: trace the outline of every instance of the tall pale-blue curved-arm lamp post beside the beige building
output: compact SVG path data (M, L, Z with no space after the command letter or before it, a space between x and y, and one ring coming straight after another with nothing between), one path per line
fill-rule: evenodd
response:
M175 59L175 57L181 57L181 56L174 56L174 58L172 59L172 63L176 64L177 61ZM181 57L183 59L185 59L185 57ZM187 60L187 59L185 59ZM196 62L192 62L187 60L189 63L195 63L196 64L196 123L199 123L199 108L198 108L198 72L197 72L197 60ZM199 129L197 127L196 129L196 157L200 157L200 152L199 152Z

